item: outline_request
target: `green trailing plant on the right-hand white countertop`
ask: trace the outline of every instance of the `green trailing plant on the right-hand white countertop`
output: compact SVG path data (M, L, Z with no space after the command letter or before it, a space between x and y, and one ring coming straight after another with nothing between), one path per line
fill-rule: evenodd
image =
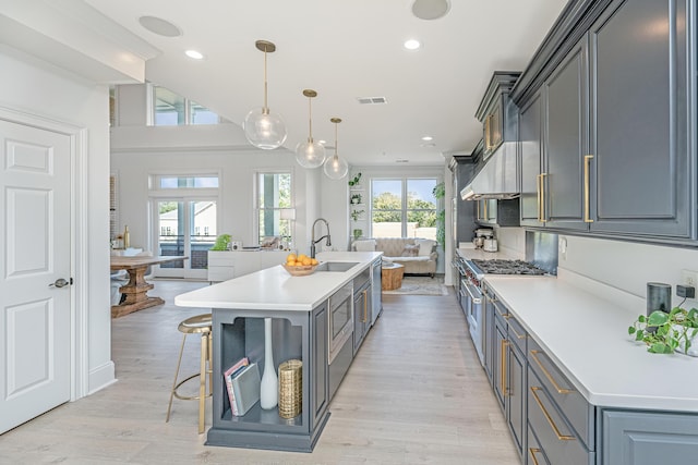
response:
M645 342L647 351L653 354L671 354L676 350L688 353L698 334L698 309L674 307L669 314L657 310L649 316L640 315L628 328L628 334Z

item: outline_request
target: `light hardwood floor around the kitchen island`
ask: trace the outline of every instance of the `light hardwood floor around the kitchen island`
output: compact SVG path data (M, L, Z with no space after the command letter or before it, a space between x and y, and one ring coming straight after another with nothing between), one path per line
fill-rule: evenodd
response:
M206 311L176 307L173 296L201 285L156 281L152 293L165 305L112 320L119 382L0 436L0 463L519 463L453 290L383 296L383 316L337 391L313 453L204 445L196 402L176 399L165 423L181 343L177 325ZM198 342L188 339L184 372L197 370Z

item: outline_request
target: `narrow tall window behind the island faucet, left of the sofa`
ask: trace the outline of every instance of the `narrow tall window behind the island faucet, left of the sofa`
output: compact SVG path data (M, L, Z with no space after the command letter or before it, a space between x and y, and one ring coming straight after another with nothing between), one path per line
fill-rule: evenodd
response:
M257 173L257 238L292 237L289 220L281 220L281 209L291 208L291 173Z

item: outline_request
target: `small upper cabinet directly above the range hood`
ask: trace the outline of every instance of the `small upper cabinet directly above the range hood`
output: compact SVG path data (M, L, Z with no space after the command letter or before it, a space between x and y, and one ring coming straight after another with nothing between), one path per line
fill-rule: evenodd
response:
M505 140L517 138L517 111L509 90L521 73L496 71L478 107L476 118L482 123L483 159L488 159Z

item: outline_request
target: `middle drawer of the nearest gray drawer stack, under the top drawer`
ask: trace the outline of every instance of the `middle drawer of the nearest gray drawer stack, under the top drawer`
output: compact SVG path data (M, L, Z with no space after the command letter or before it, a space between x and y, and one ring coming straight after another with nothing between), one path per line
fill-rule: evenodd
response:
M593 465L595 454L587 450L530 368L528 378L528 424L537 439L534 449L551 464Z

